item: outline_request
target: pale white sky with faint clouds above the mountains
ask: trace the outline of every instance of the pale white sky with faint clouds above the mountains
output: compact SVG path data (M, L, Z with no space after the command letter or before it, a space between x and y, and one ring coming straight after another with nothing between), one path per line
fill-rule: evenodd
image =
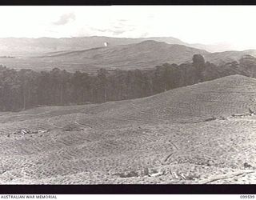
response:
M256 6L0 6L0 38L174 37L256 49Z

